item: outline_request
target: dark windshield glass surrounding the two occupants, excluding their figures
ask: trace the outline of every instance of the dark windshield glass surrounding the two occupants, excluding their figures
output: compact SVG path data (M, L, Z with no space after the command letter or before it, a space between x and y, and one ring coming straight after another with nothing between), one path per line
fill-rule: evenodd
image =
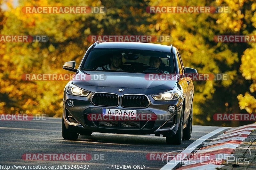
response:
M132 49L92 49L85 59L82 69L96 70L97 68L106 64L111 64L111 57L113 55L122 56L122 63L120 64L120 72L134 72L145 73L145 70L150 68L150 60L159 58L161 64L158 69L164 73L175 73L174 62L170 53L156 52L148 50L132 50ZM150 59L151 58L151 59ZM98 70L98 71L112 71L112 70ZM117 71L117 70L116 70Z

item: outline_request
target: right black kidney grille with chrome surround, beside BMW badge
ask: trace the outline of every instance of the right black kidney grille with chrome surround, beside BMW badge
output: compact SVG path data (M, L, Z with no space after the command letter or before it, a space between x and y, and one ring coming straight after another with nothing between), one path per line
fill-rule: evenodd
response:
M123 107L148 107L149 101L145 95L128 94L122 98Z

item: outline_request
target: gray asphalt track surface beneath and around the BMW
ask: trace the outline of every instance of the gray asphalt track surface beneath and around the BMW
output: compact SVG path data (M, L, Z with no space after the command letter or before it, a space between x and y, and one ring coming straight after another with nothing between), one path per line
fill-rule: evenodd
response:
M220 127L194 125L189 141L183 141L181 145L167 145L165 137L154 137L154 135L95 132L91 136L80 135L76 141L64 140L61 136L60 118L46 118L41 121L0 121L0 165L11 167L12 165L89 165L88 169L113 169L113 165L131 165L133 169L134 165L141 165L142 168L145 166L145 169L160 169L166 161L163 163L162 160L148 160L146 158L148 153L183 150L196 139L218 128ZM24 160L22 155L26 153L86 153L92 155L92 159ZM98 159L100 154L101 160Z

